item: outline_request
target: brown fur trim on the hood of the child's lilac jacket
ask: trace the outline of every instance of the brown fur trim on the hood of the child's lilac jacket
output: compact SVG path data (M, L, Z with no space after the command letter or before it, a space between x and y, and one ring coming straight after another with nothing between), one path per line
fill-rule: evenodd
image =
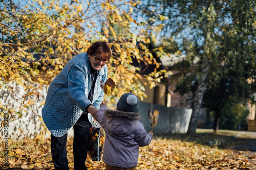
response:
M129 118L131 120L139 120L141 118L139 113L134 112L123 112L119 110L104 110L104 115L106 117L122 117L122 118Z

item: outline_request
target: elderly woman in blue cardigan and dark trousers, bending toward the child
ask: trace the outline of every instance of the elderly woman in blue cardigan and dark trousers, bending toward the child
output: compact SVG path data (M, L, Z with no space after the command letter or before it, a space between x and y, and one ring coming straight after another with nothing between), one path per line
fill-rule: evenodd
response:
M51 152L56 169L69 169L68 130L74 128L74 168L87 169L88 141L92 116L104 92L100 81L108 79L112 51L106 42L94 42L87 53L73 57L49 86L42 118L51 132Z

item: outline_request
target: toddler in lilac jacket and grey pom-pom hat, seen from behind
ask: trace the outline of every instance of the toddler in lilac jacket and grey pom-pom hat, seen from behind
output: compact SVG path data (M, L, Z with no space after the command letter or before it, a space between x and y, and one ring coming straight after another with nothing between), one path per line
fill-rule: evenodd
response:
M146 133L140 119L138 97L125 93L117 103L116 110L109 110L102 102L97 119L105 130L105 142L102 160L106 170L135 170L139 147L150 144L153 133Z

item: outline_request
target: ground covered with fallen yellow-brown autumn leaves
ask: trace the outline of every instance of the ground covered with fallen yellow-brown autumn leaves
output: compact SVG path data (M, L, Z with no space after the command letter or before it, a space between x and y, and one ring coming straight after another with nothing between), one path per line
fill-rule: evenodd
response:
M212 145L209 145L209 141ZM218 142L221 141L221 142ZM73 139L68 139L70 169L74 168ZM197 137L173 135L155 137L140 148L137 169L256 169L255 139L202 133ZM4 143L0 147L0 169L54 169L50 139L24 139L8 142L9 167L5 166ZM105 169L104 163L87 159L88 169Z

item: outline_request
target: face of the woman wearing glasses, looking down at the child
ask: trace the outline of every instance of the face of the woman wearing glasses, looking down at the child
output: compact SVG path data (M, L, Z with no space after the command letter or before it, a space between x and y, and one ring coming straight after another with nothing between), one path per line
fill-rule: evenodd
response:
M108 58L104 57L101 54L89 56L89 61L91 62L91 65L95 70L100 70L106 63L109 62Z

